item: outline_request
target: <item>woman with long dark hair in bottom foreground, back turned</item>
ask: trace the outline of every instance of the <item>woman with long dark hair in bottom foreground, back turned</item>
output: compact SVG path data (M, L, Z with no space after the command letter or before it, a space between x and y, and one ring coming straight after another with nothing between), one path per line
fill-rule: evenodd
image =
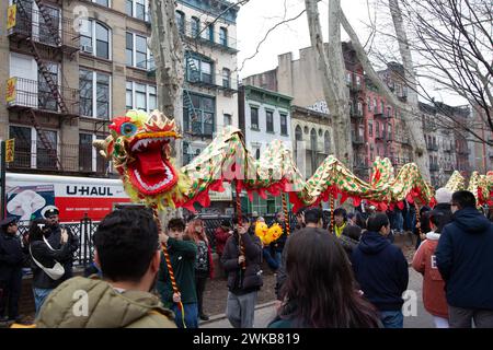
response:
M270 328L374 328L376 310L355 289L349 261L337 240L305 229L287 246L284 303Z

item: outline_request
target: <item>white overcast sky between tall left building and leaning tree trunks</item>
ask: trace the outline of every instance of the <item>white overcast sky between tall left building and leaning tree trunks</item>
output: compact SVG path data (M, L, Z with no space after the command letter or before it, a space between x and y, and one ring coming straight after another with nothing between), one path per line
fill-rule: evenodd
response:
M369 23L368 7L366 0L343 0L342 7L351 24L359 35L359 39L365 43L368 31L366 25ZM238 67L242 67L243 60L255 52L257 44L265 36L265 33L279 23L285 13L286 19L299 14L305 8L305 0L250 0L243 5L238 14L237 37ZM322 0L319 4L322 21L322 31L324 35L328 32L328 0ZM343 40L347 39L344 31ZM326 40L326 37L325 37ZM303 14L296 21L283 24L268 35L268 38L259 49L259 54L244 63L240 71L240 78L245 78L254 73L277 67L277 56L293 51L295 58L298 58L298 49L310 46L310 36L308 33L308 21Z

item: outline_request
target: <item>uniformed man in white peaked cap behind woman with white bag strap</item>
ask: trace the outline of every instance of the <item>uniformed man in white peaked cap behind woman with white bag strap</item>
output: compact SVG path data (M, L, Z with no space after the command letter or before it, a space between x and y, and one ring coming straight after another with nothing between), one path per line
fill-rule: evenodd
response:
M50 230L48 242L55 248L58 249L60 247L61 242L61 233L62 231L67 231L68 234L68 249L69 256L67 259L60 261L65 268L65 275L61 278L62 281L68 280L73 277L72 267L73 267L73 254L79 249L80 243L77 235L74 235L70 228L61 228L59 222L59 210L58 208L48 209L45 212L45 219L48 223L48 229Z

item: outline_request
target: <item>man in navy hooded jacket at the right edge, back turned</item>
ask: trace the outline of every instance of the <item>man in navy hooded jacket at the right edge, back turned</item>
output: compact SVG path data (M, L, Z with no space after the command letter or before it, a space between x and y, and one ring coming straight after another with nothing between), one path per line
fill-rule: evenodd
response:
M452 328L493 327L493 224L459 190L451 198L451 222L442 231L436 265L445 280Z

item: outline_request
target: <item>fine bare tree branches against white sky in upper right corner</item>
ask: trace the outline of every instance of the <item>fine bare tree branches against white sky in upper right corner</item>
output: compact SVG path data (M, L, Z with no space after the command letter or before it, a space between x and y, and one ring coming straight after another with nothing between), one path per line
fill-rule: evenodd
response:
M458 94L493 131L491 0L402 0L420 75Z

